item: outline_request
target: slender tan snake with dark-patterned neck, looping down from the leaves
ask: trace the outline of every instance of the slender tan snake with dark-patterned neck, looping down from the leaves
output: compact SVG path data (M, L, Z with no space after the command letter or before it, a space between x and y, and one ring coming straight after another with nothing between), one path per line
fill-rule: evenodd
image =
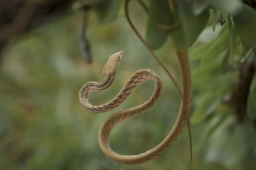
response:
M140 153L138 155L120 155L111 150L111 147L109 146L109 135L111 129L113 129L116 124L127 120L128 118L135 117L136 115L152 108L152 106L159 101L163 91L162 81L157 73L150 69L140 69L131 75L123 89L120 90L120 92L111 101L99 106L93 106L90 104L88 97L92 92L107 89L113 83L116 70L120 64L123 53L123 51L120 51L109 56L108 62L106 62L103 69L103 74L105 76L104 80L100 83L95 81L85 83L79 91L79 101L86 110L92 113L104 113L113 110L122 104L127 97L129 97L132 92L134 92L134 90L143 83L143 81L154 80L154 92L152 96L145 101L145 103L114 113L104 121L99 130L99 146L106 157L121 164L141 164L164 153L177 140L182 129L184 129L191 108L191 71L188 53L176 51L182 81L182 99L180 100L179 114L175 120L172 130L168 133L166 138L161 141L161 143L147 152Z

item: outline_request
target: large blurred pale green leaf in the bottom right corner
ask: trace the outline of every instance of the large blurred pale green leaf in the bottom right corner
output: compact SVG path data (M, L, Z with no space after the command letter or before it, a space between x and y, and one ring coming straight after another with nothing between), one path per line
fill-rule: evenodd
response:
M249 148L255 146L253 132L255 131L249 121L244 120L241 124L237 124L236 117L226 117L209 136L205 159L208 162L219 162L223 167L231 167L241 160L252 161L251 156L247 155L252 153L248 152Z

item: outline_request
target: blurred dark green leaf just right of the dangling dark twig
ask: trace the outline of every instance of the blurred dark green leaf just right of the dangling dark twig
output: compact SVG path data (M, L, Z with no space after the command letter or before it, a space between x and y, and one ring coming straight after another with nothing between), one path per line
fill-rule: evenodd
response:
M101 0L96 6L95 13L100 24L108 24L115 19L120 4L120 0Z

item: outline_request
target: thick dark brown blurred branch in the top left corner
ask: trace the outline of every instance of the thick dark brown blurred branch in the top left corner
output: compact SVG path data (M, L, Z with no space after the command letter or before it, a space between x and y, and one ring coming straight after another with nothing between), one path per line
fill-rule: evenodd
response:
M70 10L78 0L1 0L0 52L14 36L24 34L39 25L60 20L86 7Z

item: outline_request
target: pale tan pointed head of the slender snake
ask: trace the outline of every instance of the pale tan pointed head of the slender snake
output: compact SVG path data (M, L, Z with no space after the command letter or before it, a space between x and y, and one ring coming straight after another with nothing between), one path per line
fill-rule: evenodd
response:
M104 76L116 73L116 69L118 68L120 60L123 57L123 53L123 51L120 51L109 56L108 62L105 64L103 69Z

